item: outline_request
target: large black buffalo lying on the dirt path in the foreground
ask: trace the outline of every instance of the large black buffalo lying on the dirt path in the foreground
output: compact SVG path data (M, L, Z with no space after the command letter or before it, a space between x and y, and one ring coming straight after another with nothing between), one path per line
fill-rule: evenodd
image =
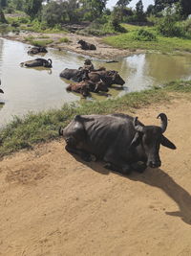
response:
M103 160L108 169L128 175L132 170L158 168L160 145L176 149L163 135L166 115L160 113L158 118L160 127L144 126L137 117L124 114L77 115L66 128L59 128L59 134L66 141L67 151L85 161L93 160L94 156Z

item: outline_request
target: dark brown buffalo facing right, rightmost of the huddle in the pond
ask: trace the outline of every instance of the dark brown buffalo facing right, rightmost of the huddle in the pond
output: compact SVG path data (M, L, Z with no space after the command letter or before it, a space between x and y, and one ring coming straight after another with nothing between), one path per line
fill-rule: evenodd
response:
M90 72L87 75L87 78L90 79L90 81L97 82L97 81L104 81L107 86L111 86L112 84L119 84L123 85L125 81L119 76L117 71L98 71L98 72Z

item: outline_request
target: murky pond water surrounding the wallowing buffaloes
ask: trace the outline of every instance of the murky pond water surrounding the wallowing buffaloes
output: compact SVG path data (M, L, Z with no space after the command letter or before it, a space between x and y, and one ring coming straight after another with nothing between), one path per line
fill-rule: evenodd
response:
M12 116L23 116L29 111L39 111L60 107L65 103L79 101L80 96L68 93L66 86L70 81L59 78L66 67L78 68L86 57L69 52L49 49L43 58L52 58L53 68L22 68L19 63L33 58L27 54L29 45L0 38L0 126L5 125ZM191 55L167 56L141 54L122 58L117 63L105 63L94 59L96 67L115 69L126 81L123 90L111 89L113 97L131 91L139 91L154 84L162 84L176 79L191 79ZM93 99L105 100L104 96L93 94ZM88 99L91 100L91 99Z

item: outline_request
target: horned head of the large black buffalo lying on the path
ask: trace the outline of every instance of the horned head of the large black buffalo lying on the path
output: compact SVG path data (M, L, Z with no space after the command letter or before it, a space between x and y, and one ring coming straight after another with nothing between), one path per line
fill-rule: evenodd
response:
M152 168L158 168L161 165L161 161L159 159L160 144L171 150L176 149L176 146L162 134L167 128L166 115L164 113L160 113L158 118L161 119L160 127L143 126L138 122L138 117L136 117L133 122L134 128L137 132L131 146L136 147L141 145L147 166Z

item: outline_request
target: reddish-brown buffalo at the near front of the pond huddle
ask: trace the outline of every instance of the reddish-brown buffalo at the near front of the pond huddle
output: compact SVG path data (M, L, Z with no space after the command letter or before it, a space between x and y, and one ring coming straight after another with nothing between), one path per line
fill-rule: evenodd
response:
M109 91L107 85L103 81L98 81L97 83L94 83L87 80L80 81L79 83L70 83L70 85L66 89L68 91L78 92L84 97L87 97L90 92Z

